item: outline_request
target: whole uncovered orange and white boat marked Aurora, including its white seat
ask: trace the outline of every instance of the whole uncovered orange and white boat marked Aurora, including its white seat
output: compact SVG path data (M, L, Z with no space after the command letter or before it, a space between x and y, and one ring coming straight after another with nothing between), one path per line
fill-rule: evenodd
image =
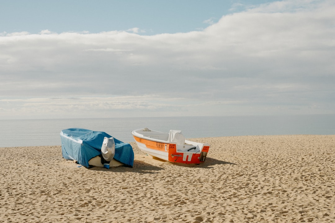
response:
M170 162L200 163L204 162L209 144L186 140L179 130L170 133L137 129L131 132L143 152Z

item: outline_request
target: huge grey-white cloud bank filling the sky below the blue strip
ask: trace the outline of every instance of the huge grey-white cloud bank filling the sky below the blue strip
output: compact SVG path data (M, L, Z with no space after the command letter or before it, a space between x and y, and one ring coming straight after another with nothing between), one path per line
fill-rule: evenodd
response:
M134 116L329 113L334 10L333 1L278 1L222 16L201 31L151 36L139 28L2 33L0 115L13 108L50 116L109 109ZM157 99L130 100L147 95ZM65 100L72 97L80 100ZM36 98L45 101L11 101Z

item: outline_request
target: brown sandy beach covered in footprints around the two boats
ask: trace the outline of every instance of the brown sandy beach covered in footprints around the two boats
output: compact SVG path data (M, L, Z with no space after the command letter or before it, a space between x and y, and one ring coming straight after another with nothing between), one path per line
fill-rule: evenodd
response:
M134 168L109 170L60 146L0 148L0 222L335 222L335 135L194 141L211 145L200 165L131 143Z

